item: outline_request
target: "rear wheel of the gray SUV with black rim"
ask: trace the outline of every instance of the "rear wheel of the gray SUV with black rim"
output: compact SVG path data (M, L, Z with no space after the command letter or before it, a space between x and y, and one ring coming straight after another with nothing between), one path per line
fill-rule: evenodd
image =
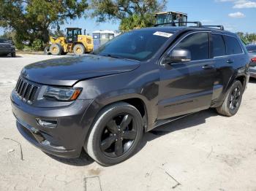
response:
M234 82L230 87L229 93L227 94L223 104L216 108L217 112L227 117L235 115L241 105L241 100L244 93L243 91L243 85L241 82Z

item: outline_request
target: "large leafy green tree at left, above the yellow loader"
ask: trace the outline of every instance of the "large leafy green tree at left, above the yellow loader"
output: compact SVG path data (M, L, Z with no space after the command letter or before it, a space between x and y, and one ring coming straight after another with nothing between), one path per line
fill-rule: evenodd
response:
M48 42L50 26L60 26L67 20L81 17L86 0L1 0L0 26L15 31L15 42Z

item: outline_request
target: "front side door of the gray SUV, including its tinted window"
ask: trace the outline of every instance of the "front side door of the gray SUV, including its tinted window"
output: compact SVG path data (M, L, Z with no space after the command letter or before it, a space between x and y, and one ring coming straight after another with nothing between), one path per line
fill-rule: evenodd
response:
M209 38L207 31L181 37L170 51L189 50L192 61L159 66L158 120L197 112L211 105L216 70Z

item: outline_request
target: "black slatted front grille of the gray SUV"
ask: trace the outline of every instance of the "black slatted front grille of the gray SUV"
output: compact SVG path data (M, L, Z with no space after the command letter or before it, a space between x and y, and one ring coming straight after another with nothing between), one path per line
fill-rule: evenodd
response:
M28 101L28 103L31 104L36 97L38 88L38 86L33 85L31 82L19 78L15 91L23 101Z

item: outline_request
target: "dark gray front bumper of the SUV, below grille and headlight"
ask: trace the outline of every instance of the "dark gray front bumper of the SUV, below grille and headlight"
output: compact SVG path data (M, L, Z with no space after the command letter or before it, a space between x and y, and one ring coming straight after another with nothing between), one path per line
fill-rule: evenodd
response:
M77 100L69 106L35 107L12 92L12 112L20 134L35 147L58 157L79 157L86 139L84 114L90 100ZM56 120L56 128L45 128L37 119Z

